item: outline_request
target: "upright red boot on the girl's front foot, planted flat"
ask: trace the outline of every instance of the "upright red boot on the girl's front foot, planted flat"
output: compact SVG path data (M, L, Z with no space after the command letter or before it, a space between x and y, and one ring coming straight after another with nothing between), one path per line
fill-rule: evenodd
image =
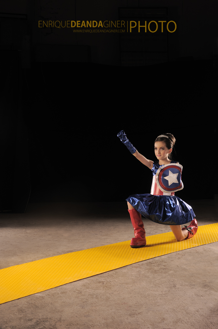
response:
M135 238L130 242L131 248L140 248L146 245L145 230L142 222L142 215L134 208L128 209L132 226L134 228Z

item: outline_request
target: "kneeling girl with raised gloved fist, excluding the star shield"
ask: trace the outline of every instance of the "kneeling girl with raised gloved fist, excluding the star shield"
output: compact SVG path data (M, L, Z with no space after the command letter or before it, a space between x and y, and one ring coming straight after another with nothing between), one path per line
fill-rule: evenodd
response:
M117 136L139 161L152 170L153 176L156 175L158 169L164 164L179 164L179 162L171 160L171 152L176 141L171 134L160 135L155 139L154 151L158 159L155 162L146 159L136 150L126 138L124 130L121 130ZM156 223L170 225L176 241L193 237L198 229L191 206L178 196L175 196L174 192L163 193L159 189L155 178L153 177L151 194L133 194L126 199L135 234L135 238L132 238L130 242L130 247L132 248L140 248L146 245L142 217ZM190 221L190 226L181 228L181 224L186 224Z

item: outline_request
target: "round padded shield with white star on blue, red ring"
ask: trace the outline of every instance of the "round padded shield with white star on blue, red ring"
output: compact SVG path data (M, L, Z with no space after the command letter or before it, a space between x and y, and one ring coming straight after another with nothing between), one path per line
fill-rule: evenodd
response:
M183 189L181 164L164 164L156 173L156 183L163 192L176 192Z

